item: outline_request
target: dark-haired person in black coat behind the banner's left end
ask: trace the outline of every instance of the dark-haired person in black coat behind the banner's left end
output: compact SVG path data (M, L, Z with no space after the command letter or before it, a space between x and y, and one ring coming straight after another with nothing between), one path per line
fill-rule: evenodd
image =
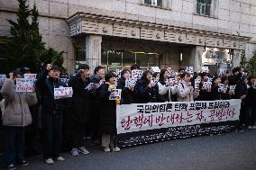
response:
M131 81L128 82L128 85L126 86L125 83L127 83L127 81ZM123 69L121 71L121 77L119 78L118 82L117 82L117 89L122 89L122 98L121 98L121 104L130 104L130 103L134 103L135 101L135 94L134 94L134 86L135 85L131 85L133 79L131 78L131 73L128 69ZM128 84L127 83L127 84Z

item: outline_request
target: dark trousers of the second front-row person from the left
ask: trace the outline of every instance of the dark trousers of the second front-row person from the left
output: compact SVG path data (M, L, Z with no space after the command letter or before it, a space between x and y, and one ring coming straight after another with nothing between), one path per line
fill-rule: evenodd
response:
M62 144L62 114L42 113L43 158L59 157Z

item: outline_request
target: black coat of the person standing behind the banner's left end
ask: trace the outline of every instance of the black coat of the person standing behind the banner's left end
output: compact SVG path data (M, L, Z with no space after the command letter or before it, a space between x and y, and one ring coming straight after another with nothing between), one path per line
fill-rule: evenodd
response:
M117 82L117 89L122 89L121 104L135 103L135 91L125 87L125 78L122 76Z

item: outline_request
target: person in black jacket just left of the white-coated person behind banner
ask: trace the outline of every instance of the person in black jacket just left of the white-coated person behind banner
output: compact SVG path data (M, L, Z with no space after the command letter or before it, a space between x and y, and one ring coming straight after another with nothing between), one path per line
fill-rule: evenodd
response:
M161 102L159 86L151 81L151 71L145 71L142 78L137 81L135 91L138 95L138 103L157 103Z

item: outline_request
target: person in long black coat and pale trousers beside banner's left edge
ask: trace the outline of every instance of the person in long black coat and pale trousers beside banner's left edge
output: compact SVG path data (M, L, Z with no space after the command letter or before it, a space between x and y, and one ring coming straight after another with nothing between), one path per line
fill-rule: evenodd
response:
M116 104L119 100L109 100L110 94L116 89L115 75L109 72L105 75L105 84L102 85L99 91L100 115L99 115L99 130L102 135L102 147L105 152L120 151L116 146Z

